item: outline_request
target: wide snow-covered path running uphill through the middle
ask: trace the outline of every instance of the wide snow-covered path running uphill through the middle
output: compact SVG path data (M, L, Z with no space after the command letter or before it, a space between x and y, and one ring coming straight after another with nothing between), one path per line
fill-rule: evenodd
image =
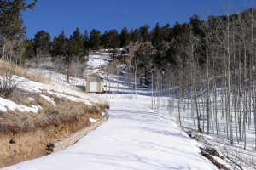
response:
M218 169L175 123L136 100L110 102L108 121L73 146L5 169Z

